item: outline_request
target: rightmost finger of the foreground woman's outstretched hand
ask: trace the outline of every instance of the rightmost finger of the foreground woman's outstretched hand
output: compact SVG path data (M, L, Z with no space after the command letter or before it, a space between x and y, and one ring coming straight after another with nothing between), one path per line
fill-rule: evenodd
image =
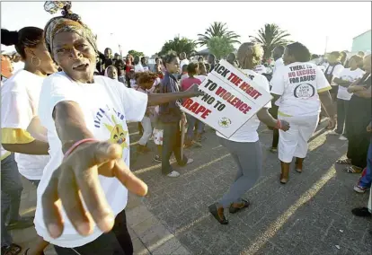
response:
M130 192L138 196L146 196L148 189L146 183L137 178L137 176L129 170L127 164L122 160L117 160L115 162L112 171L116 178L118 178L118 180L120 180L120 182L127 187Z

